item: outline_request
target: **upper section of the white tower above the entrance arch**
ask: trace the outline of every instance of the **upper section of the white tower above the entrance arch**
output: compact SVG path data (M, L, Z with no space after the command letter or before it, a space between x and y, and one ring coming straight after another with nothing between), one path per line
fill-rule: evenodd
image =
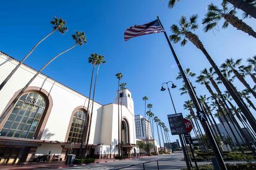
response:
M120 89L117 92L117 95L119 95L119 105L124 105L128 108L128 110L134 115L134 99L132 99L132 94L128 89ZM114 103L118 103L118 99L116 96L116 99L114 100Z

